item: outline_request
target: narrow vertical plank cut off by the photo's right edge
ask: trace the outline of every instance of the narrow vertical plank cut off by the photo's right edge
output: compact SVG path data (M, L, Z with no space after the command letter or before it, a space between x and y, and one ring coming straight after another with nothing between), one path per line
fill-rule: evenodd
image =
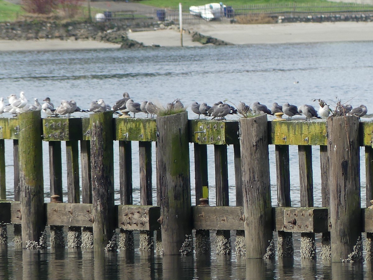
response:
M365 147L365 176L366 176L366 207L372 205L373 199L373 148ZM366 239L366 261L373 260L373 233L367 232Z

